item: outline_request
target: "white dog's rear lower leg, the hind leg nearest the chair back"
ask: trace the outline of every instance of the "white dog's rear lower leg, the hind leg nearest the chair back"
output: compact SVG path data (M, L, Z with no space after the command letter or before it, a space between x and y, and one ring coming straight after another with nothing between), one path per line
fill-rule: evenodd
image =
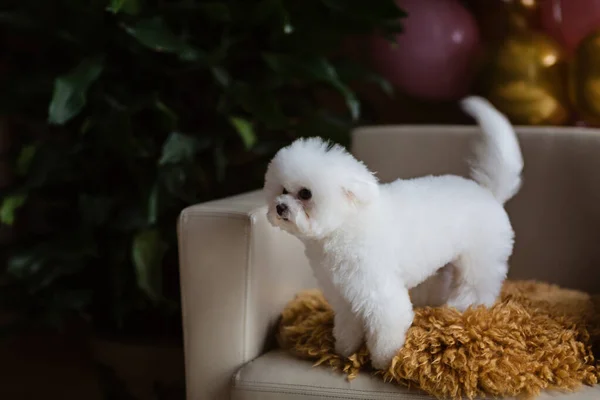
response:
M490 257L491 256L491 257ZM490 254L465 254L455 263L456 276L450 290L448 306L465 311L471 306L491 307L506 279L508 265Z

